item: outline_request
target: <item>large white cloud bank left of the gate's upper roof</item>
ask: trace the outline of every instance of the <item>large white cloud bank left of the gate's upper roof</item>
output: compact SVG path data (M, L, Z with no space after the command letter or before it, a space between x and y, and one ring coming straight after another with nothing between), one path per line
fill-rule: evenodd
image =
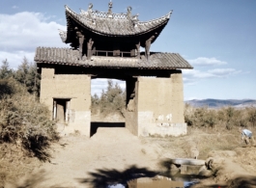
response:
M16 66L24 56L33 61L38 46L69 47L58 33L66 26L48 19L43 13L0 14L0 61L8 59L11 66Z

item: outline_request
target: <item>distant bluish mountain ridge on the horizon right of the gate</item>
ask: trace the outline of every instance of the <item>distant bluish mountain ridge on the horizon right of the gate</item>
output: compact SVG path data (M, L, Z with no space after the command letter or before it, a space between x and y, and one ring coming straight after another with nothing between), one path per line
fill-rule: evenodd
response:
M256 100L253 99L242 99L242 100L235 100L235 99L227 99L227 100L220 100L220 99L202 99L202 100L186 100L185 103L190 104L193 107L203 107L207 106L209 108L221 108L224 106L233 106L237 108L244 108L248 106L256 107Z

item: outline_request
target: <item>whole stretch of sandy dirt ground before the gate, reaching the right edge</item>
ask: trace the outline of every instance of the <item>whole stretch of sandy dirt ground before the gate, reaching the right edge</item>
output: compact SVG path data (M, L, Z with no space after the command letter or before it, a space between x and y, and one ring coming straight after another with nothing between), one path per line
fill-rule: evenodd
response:
M4 187L106 187L125 182L131 175L167 172L166 161L190 157L191 145L199 148L199 159L213 158L213 176L195 188L256 187L256 148L241 147L232 134L189 130L178 138L138 138L125 127L99 127L91 138L64 136L52 145L50 161Z

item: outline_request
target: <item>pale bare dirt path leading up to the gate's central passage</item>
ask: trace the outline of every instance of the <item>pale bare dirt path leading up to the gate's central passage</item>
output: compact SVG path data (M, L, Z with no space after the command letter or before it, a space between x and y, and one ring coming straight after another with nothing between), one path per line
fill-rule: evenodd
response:
M91 139L80 136L64 137L55 145L51 163L34 171L44 171L40 187L87 187L80 183L98 170L124 172L130 166L156 170L157 153L154 147L141 143L126 128L99 128Z

